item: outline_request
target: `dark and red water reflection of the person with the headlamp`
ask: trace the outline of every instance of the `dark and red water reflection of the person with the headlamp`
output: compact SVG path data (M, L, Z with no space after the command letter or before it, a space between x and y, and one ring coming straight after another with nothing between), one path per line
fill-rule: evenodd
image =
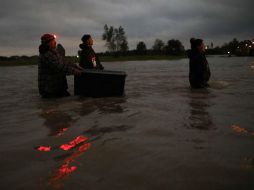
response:
M63 106L63 102L58 104L52 103L51 101L43 101L39 107L42 110L39 115L45 119L44 126L49 128L49 136L59 137L65 135L68 128L77 121L77 118L73 118L69 114L71 111L77 109L77 105L74 102ZM64 108L67 108L67 110ZM61 138L61 140L64 139ZM40 152L51 152L51 155L53 153L58 158L56 160L57 163L60 163L60 166L56 167L57 169L54 169L49 176L48 182L50 186L61 188L59 182L77 170L77 166L72 163L90 148L91 143L88 140L88 137L79 135L68 143L65 142L61 145L41 145L36 148ZM64 151L64 153L61 151Z

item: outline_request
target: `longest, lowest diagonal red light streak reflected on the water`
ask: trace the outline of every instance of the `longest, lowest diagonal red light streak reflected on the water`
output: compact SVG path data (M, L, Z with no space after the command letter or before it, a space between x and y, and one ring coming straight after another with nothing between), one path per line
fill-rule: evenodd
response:
M86 150L88 150L91 146L91 143L86 143L81 145L77 151L73 152L68 158L64 160L64 164L60 166L57 170L57 174L53 176L49 181L55 182L61 180L63 177L70 175L74 171L76 171L76 166L70 166L71 162L73 162L76 158L82 155Z

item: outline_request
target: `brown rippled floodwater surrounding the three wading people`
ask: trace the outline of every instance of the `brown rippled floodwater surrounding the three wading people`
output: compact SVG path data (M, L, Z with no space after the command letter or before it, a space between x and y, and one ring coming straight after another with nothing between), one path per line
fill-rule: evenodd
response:
M38 96L37 66L0 68L0 189L253 190L254 58L104 63L124 97ZM68 77L73 94L73 77Z

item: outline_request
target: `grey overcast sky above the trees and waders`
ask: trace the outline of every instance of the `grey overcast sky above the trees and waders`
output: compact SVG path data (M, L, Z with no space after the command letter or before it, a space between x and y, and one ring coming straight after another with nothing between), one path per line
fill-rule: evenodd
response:
M36 55L43 33L55 33L67 55L75 55L84 33L105 51L103 27L122 26L130 49L156 38L189 38L221 45L254 38L254 0L1 0L0 55Z

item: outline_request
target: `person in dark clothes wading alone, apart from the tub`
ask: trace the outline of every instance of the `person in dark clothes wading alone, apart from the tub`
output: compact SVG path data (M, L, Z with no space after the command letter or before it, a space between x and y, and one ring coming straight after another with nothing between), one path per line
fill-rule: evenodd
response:
M189 81L191 88L209 87L211 76L209 64L205 56L205 45L202 39L190 39L191 50L187 51L189 61Z

